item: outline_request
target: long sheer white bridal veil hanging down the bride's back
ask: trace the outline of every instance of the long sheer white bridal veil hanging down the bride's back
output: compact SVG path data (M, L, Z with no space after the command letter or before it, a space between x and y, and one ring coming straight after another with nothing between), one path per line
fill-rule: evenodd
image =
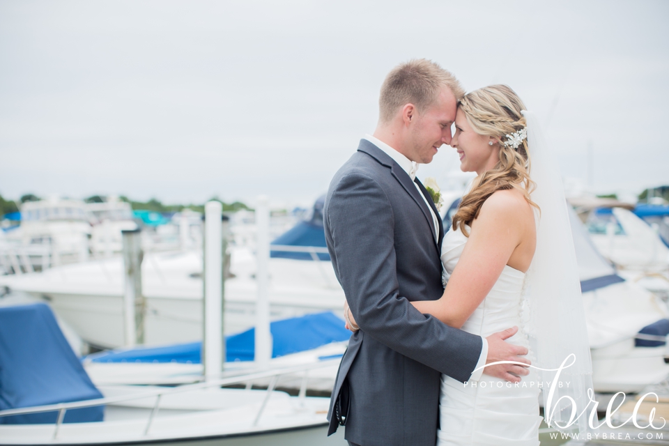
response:
M546 422L551 427L585 432L588 412L583 411L590 403L587 390L592 389L592 363L568 205L560 169L538 119L525 110L523 115L530 176L537 184L531 197L541 209L537 249L526 277L523 325L530 340L532 365L539 367L537 379L543 386ZM555 369L565 360L554 384Z

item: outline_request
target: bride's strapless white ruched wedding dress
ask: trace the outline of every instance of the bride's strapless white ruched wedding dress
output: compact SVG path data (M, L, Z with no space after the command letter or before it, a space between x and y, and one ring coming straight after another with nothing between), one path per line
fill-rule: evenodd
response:
M444 236L441 259L446 279L458 263L467 240L459 229L452 229ZM488 337L514 325L521 328L524 280L525 273L505 266L462 330ZM522 330L507 341L529 347ZM531 355L532 352L530 358ZM442 375L437 446L538 446L541 416L536 380L532 369L518 385L488 375L482 375L476 383L463 384Z

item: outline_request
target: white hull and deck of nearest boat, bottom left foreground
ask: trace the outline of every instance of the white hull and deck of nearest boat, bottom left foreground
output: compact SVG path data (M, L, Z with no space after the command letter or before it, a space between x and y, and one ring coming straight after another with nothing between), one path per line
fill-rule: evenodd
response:
M156 388L156 387L153 387ZM101 388L106 397L146 392L148 387ZM0 445L346 445L342 433L327 436L328 398L289 397L262 390L210 389L162 398L149 424L155 397L106 406L105 421L0 424ZM147 429L148 426L148 429Z

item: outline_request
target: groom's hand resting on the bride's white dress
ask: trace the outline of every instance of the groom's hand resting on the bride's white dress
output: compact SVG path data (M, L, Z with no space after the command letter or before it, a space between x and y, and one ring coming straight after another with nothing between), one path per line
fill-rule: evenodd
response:
M523 364L530 365L530 360L525 357L528 354L527 348L509 344L509 342L505 341L505 339L509 339L516 332L518 332L518 327L512 327L486 337L488 341L488 357L486 359L486 368L483 370L484 374L502 378L512 383L520 383L520 377L530 373L528 367L517 364L487 365L500 361L522 362Z

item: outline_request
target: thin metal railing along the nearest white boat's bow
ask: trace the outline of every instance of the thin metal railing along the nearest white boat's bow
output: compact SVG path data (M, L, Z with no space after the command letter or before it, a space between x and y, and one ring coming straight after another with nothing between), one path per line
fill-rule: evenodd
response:
M276 385L279 382L279 377L284 375L294 375L300 373L303 374L302 383L300 384L300 392L298 394L298 400L303 403L305 401L305 398L307 397L307 382L309 380L309 371L314 369L321 369L324 367L331 367L333 365L338 364L339 360L340 358L327 359L319 362L313 362L311 364L301 364L295 367L286 367L282 369L275 369L268 371L258 371L252 374L231 376L229 378L206 380L202 383L180 385L179 387L165 387L164 389L152 389L152 390L147 390L146 392L136 393L132 395L119 395L117 397L88 399L85 401L73 401L70 403L56 403L56 404L47 404L45 406L33 406L27 408L0 410L0 417L10 417L12 415L28 415L32 413L58 411L58 417L56 418L56 422L54 424L54 436L52 437L52 440L55 442L58 439L59 429L61 427L61 424L63 424L63 420L65 419L65 414L70 409L107 406L109 404L125 403L126 401L155 397L155 404L151 409L151 414L148 416L148 420L146 421L146 426L144 428L144 436L147 436L149 430L151 429L151 424L153 423L153 420L155 419L158 410L160 410L160 400L165 395L171 395L183 392L192 392L194 390L208 389L209 387L224 387L238 384L245 384L246 390L251 390L252 383L254 381L270 378L270 383L266 389L266 395L263 401L261 402L261 405L252 423L252 426L255 427L258 425L258 422L260 421L261 416L263 415L267 403L270 401L272 392L274 392Z

